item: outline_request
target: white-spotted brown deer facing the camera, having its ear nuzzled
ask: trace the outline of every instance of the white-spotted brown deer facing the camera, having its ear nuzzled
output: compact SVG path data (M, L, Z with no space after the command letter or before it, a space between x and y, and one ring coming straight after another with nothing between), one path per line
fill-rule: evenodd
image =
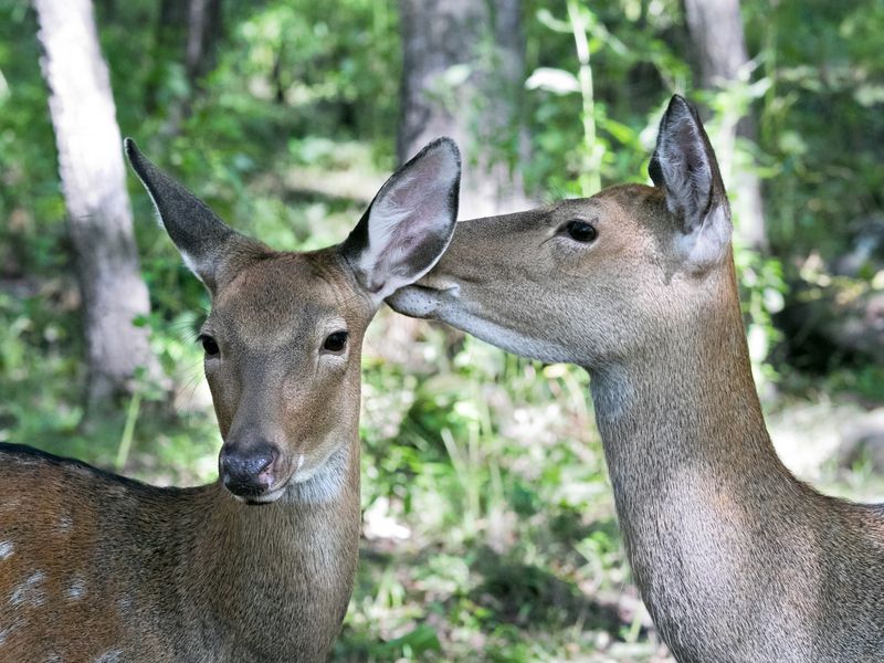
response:
M304 253L232 230L125 151L211 296L198 340L219 478L156 487L0 444L0 661L325 661L358 558L362 337L448 245L459 150L431 143L343 243Z

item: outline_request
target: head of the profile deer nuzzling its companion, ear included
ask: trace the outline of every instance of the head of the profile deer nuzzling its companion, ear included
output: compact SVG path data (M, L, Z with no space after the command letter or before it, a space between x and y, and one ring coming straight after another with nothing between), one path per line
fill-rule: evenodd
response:
M439 264L388 299L509 351L589 369L641 360L661 334L696 333L712 275L733 281L730 211L696 110L674 96L654 187L461 222Z

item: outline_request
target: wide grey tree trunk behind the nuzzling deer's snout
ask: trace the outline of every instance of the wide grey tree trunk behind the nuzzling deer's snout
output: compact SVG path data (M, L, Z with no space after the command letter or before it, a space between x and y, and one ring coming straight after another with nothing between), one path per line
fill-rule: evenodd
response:
M399 159L436 136L463 151L461 217L524 209L520 0L400 0Z

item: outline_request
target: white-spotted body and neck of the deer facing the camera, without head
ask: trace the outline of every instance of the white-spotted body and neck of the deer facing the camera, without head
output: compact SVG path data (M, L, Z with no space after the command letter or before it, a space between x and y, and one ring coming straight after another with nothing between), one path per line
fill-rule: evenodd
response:
M359 545L358 445L340 454L339 477L255 506L0 446L3 485L53 486L0 505L0 661L324 660Z

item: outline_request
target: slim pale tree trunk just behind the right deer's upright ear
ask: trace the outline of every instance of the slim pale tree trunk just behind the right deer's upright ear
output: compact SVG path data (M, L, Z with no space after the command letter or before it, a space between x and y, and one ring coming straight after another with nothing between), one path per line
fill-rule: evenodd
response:
M739 0L684 0L684 14L703 87L716 90L738 81L749 61ZM741 136L754 141L755 123L751 117L725 117L724 125L717 136L716 154L725 183L734 193L736 232L745 245L764 252L767 233L758 177L733 167L735 140Z

